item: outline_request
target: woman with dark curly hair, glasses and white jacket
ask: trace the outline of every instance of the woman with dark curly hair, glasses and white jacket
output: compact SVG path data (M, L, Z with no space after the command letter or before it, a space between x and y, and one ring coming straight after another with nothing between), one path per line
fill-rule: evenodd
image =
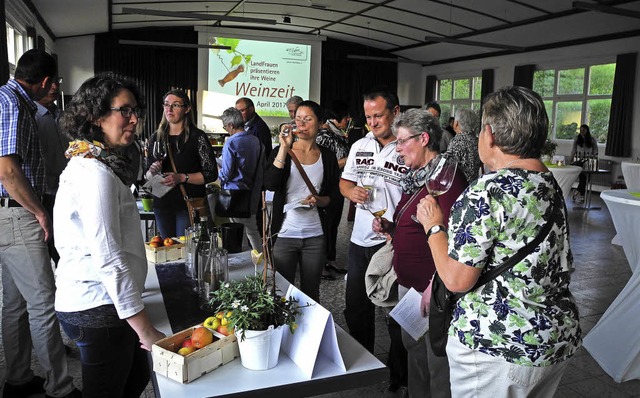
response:
M80 349L85 397L137 397L149 382L146 351L164 335L141 294L147 260L127 147L142 115L137 87L110 74L80 86L61 118L73 141L54 207L55 308Z

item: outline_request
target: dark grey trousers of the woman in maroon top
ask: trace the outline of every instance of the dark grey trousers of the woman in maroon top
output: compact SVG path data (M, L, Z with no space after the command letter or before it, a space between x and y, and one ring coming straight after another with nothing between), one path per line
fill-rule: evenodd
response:
M407 294L406 287L398 285L398 299ZM415 341L402 330L402 344L407 350L408 387L410 397L451 397L449 360L433 353L429 332Z

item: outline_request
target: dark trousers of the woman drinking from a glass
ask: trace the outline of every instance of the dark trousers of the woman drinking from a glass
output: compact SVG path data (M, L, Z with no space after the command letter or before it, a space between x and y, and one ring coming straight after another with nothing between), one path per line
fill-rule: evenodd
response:
M300 290L316 303L320 302L320 277L326 258L323 236L305 239L278 238L273 246L276 270L293 284L300 264Z

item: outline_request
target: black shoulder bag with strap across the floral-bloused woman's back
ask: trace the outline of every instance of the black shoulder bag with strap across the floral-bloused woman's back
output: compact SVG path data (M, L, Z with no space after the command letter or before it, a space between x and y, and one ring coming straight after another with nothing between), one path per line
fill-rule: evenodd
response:
M465 293L450 292L444 285L444 282L442 282L442 279L440 279L438 272L434 273L433 281L431 282L431 303L429 304L429 341L435 355L439 357L447 355L449 326L451 325L453 309L457 301L468 292L474 291L497 278L500 274L512 268L533 252L540 242L542 242L542 239L549 234L551 227L556 222L557 216L558 212L555 211L551 220L542 227L534 240L518 250L513 257L505 261L501 266L482 274L476 284Z

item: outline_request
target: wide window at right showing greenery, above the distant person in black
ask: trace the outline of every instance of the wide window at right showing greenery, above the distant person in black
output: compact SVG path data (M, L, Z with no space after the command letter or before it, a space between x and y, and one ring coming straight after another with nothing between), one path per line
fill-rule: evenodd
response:
M615 71L612 63L534 72L533 90L544 100L553 138L573 140L587 124L599 143L606 142Z

